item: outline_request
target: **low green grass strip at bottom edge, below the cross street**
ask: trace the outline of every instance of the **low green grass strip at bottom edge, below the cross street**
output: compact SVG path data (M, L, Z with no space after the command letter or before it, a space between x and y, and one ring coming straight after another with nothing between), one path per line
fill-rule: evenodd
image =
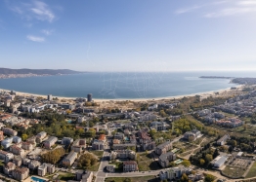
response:
M127 177L108 177L106 178L106 182L123 182ZM158 178L155 178L155 176L142 176L142 177L130 177L128 179L131 179L131 182L159 182L160 180ZM128 180L127 180L128 181Z

